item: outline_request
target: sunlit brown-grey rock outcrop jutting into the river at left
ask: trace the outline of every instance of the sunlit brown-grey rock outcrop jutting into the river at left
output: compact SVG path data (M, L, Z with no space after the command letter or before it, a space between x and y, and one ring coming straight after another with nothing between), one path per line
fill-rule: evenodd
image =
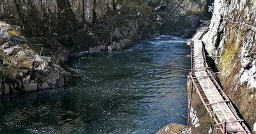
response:
M0 22L0 95L64 86L70 74L32 50L20 27Z

